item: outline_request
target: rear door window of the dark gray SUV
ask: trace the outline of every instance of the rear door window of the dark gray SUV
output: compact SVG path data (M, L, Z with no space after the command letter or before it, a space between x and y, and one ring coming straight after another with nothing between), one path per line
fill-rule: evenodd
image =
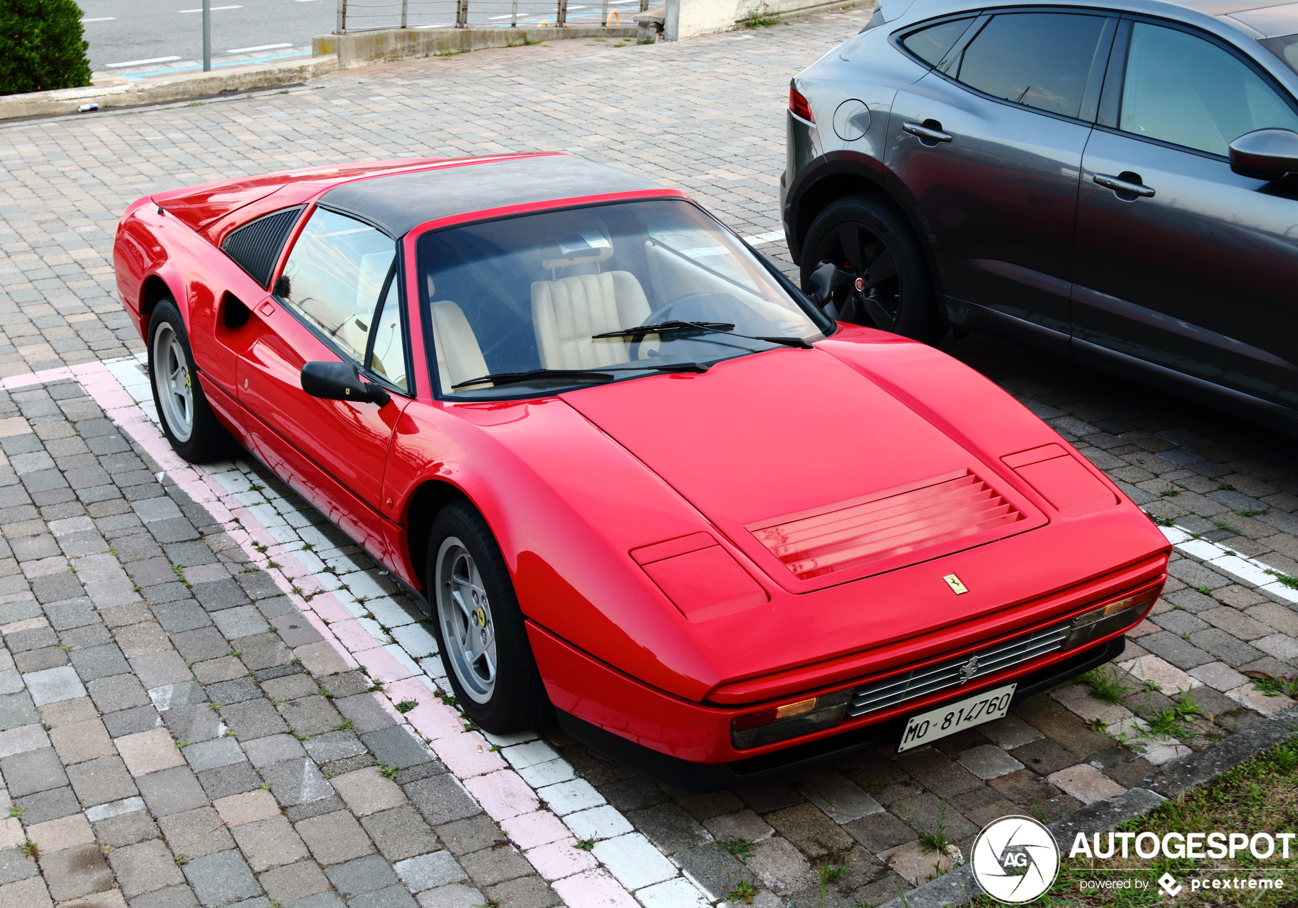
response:
M953 75L993 97L1076 117L1103 29L1102 16L994 16Z

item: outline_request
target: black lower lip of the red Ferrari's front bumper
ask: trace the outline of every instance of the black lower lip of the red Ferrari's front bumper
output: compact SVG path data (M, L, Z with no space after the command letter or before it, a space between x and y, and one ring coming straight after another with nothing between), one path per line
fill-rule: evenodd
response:
M1083 650L1070 659L1018 678L1014 693L1015 702L1063 684L1079 675L1116 659L1127 646L1125 637L1115 637L1099 646ZM996 684L1002 684L997 681ZM996 685L984 685L996 686ZM976 693L975 687L953 691L948 700L958 700ZM936 708L938 704L923 707ZM876 747L894 745L906 728L906 717L866 725L842 734L810 741L805 745L762 754L731 763L692 763L668 754L662 754L644 745L628 741L620 735L592 725L570 712L556 708L559 726L587 747L622 765L648 776L655 782L668 785L681 791L702 794L720 791L740 785L753 785L776 776L809 769L823 763L833 763Z

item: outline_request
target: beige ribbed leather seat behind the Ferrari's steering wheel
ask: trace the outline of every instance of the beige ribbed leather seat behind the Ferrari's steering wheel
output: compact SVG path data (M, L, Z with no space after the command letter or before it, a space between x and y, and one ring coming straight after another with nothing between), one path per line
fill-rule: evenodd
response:
M631 340L591 335L641 324L649 301L630 271L583 274L532 284L532 324L543 368L597 368L627 362Z

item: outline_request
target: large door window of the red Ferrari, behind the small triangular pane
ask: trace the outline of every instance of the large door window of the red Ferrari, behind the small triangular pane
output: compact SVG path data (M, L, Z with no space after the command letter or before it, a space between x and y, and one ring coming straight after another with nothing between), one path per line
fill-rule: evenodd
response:
M387 235L317 209L288 253L280 297L360 363L395 257Z

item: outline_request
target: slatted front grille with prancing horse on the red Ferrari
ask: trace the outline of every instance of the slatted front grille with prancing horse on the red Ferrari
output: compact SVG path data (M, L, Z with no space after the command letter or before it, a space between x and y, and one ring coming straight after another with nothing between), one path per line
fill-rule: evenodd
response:
M853 691L848 706L849 716L863 716L867 712L887 710L906 700L945 687L955 687L1003 668L1020 665L1046 652L1054 652L1063 646L1068 634L1067 624L1033 630L1022 637L1003 639L976 652L957 659L916 668L905 675L893 675L883 681L866 684Z

